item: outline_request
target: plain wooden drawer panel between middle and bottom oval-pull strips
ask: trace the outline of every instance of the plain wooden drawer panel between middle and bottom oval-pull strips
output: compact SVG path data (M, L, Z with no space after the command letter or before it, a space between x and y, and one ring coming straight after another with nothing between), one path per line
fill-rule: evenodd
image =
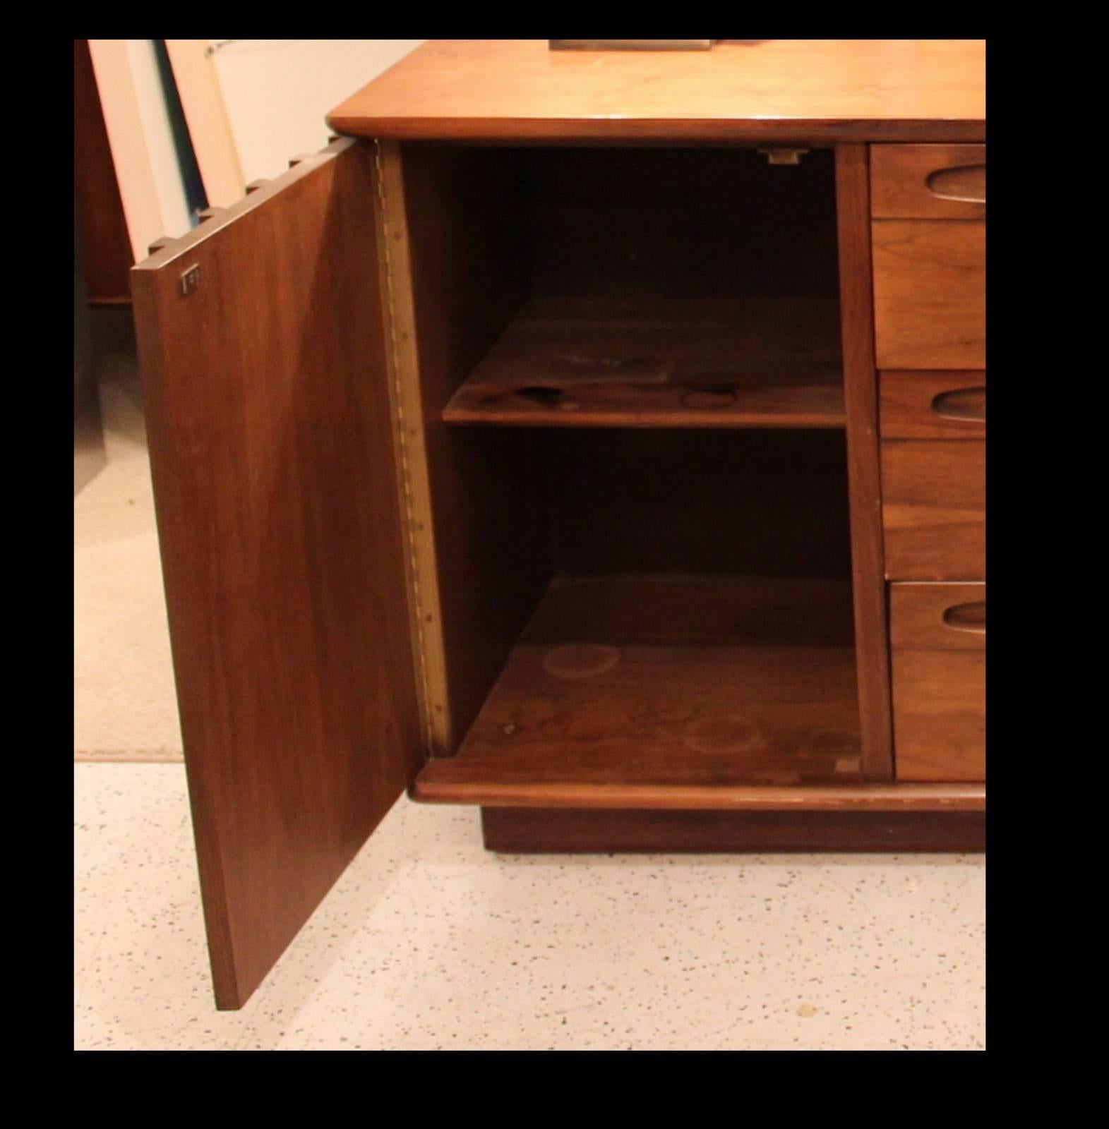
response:
M882 526L888 579L985 577L985 441L883 439Z

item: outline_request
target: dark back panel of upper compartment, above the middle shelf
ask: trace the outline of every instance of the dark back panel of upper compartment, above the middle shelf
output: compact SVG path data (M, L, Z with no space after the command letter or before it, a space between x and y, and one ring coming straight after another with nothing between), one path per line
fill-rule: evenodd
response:
M837 295L830 149L521 152L539 296Z

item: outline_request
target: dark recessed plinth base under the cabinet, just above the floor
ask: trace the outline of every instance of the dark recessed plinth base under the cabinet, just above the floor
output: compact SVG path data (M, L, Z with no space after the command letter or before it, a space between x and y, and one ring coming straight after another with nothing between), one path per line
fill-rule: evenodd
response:
M776 854L986 849L985 812L683 812L483 807L487 850Z

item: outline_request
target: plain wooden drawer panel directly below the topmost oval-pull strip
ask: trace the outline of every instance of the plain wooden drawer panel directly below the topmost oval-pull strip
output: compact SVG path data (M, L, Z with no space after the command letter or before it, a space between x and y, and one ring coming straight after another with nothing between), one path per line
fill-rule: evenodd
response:
M879 368L986 367L985 220L871 225Z

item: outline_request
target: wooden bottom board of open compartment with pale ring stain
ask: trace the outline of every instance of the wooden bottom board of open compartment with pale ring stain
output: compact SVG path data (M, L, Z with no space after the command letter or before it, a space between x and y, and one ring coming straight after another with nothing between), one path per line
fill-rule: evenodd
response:
M412 797L898 806L862 785L850 585L557 579L456 756ZM868 797L868 798L867 798Z

